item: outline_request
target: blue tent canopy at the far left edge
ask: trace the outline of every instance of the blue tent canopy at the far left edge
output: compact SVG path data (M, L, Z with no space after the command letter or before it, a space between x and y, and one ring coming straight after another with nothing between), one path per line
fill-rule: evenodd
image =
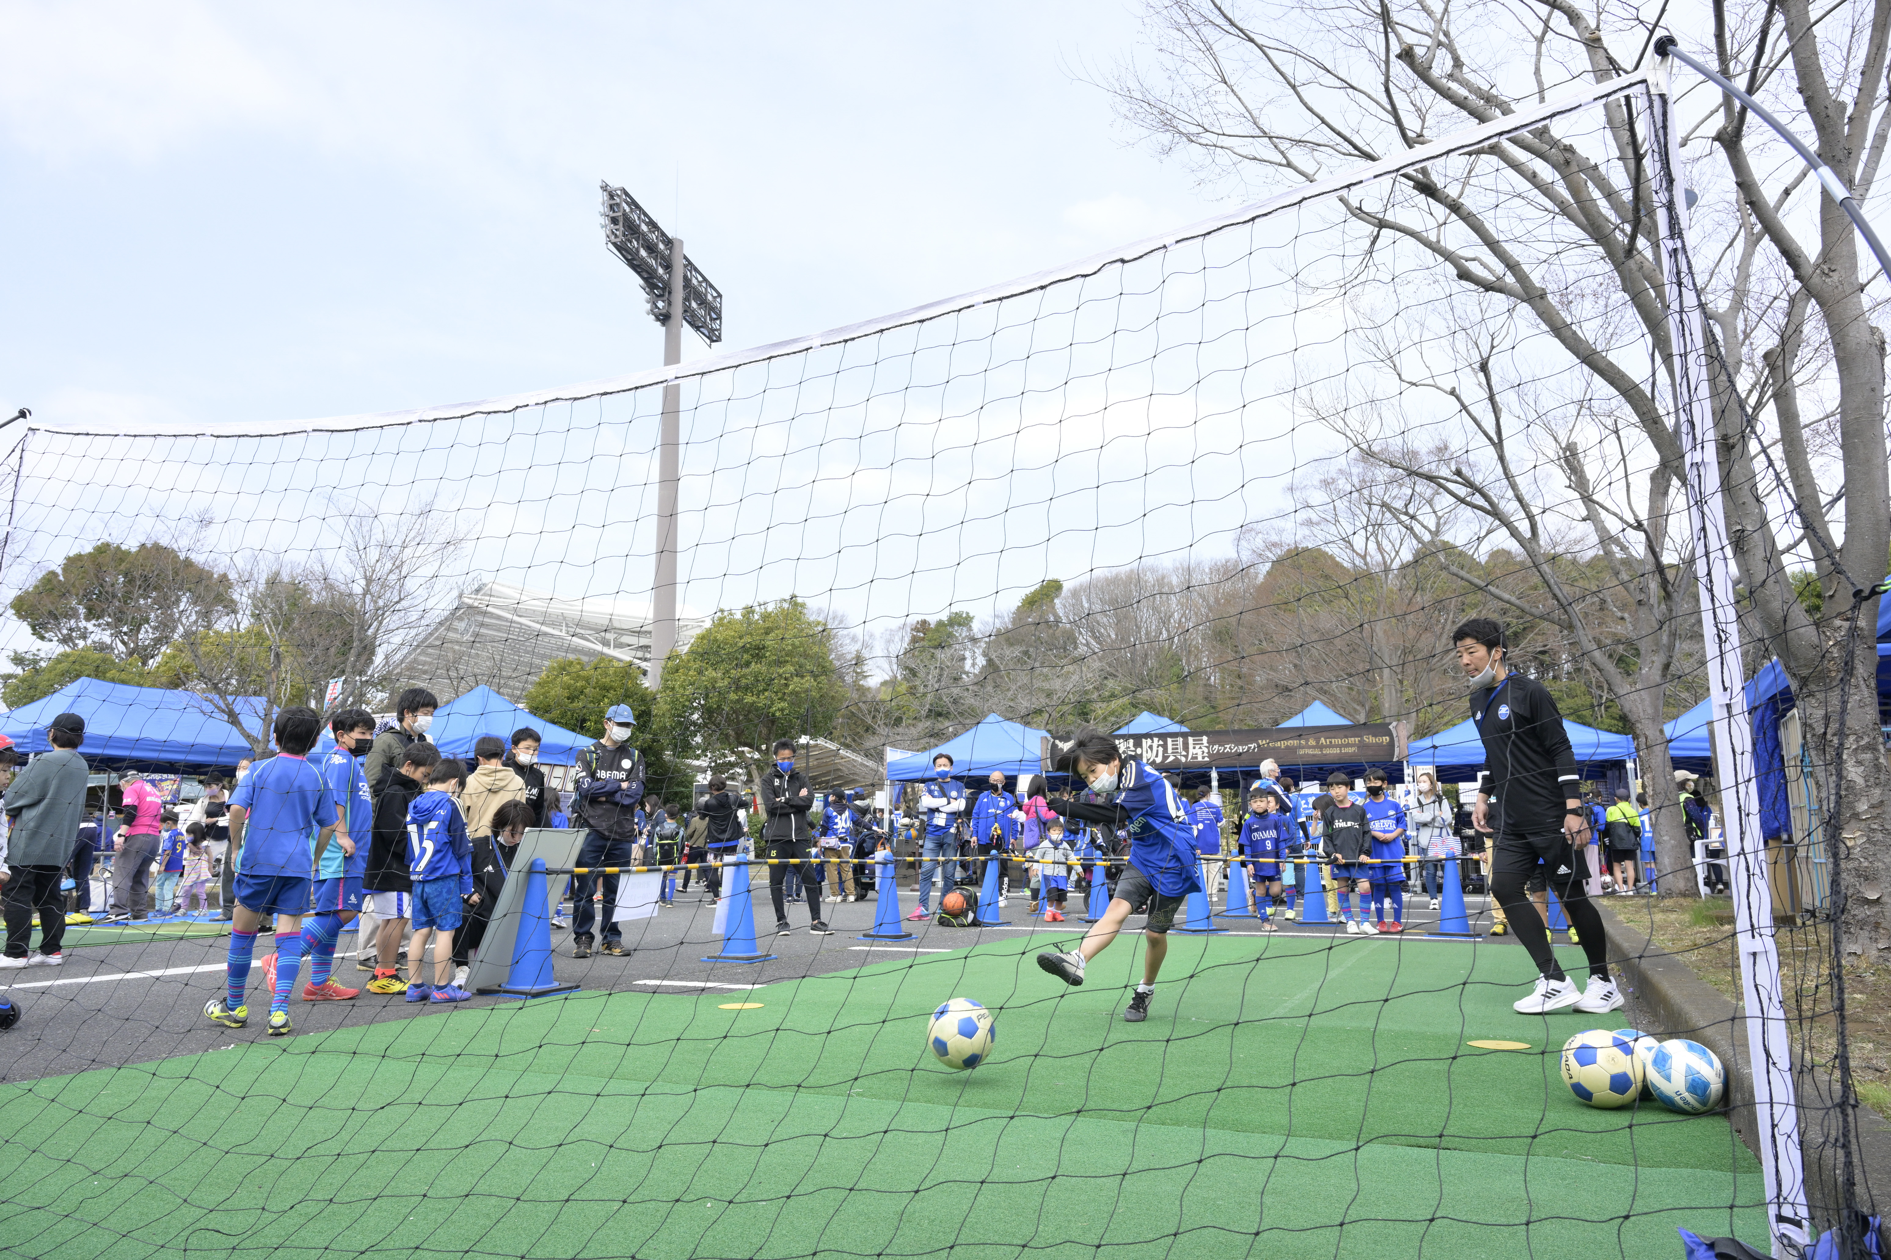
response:
M263 701L244 697L252 729L263 727ZM134 688L76 678L47 697L0 716L0 733L21 752L47 752L45 727L62 712L85 718L87 761L134 771L234 769L252 756L250 741L191 691Z

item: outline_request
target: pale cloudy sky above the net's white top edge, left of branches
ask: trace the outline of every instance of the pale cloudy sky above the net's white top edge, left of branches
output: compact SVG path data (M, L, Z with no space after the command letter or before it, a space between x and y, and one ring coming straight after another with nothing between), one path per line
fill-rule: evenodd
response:
M599 179L685 236L724 349L1199 219L1084 81L1135 9L0 4L0 406L240 423L656 365Z

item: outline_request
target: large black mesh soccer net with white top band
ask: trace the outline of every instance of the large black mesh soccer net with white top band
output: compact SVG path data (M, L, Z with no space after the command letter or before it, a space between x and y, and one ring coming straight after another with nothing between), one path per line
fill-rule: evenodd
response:
M1702 317L1672 130L1632 74L673 370L13 425L0 1249L1670 1256L1866 1205L1883 574L1762 387L1825 406L1827 332Z

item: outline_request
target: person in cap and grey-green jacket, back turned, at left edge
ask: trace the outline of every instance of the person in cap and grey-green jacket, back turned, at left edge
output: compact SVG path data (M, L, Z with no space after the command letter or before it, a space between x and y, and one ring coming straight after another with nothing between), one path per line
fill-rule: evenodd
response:
M6 956L0 967L57 967L66 935L59 877L72 858L72 837L85 812L91 767L78 754L85 739L79 714L59 714L45 729L53 746L13 780L6 793L11 824L6 854ZM40 948L28 952L32 916L40 916Z

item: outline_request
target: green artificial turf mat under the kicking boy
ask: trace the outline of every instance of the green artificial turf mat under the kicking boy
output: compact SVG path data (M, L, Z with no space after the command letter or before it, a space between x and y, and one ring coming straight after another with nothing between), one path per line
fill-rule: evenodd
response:
M1674 1256L1675 1226L1764 1245L1725 1118L1570 1096L1556 1054L1588 1022L1509 1009L1522 950L1174 937L1140 1026L1119 1018L1131 948L1078 990L1034 952L244 1030L4 1086L0 1247L1596 1260ZM972 1073L925 1048L957 996L998 1013Z

